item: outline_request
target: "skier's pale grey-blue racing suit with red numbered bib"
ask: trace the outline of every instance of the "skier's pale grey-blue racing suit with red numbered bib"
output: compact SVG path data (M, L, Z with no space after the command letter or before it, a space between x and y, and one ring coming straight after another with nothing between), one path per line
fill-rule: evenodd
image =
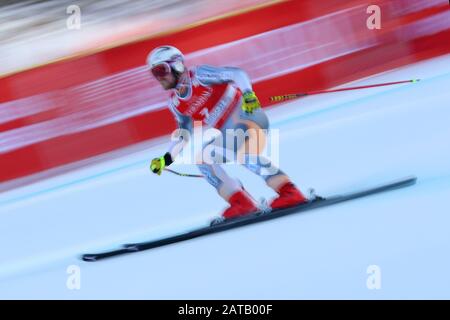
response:
M203 145L203 148L207 148L214 144L215 150L222 149L222 152L215 156L219 161L217 163L200 161L197 165L206 180L225 200L242 188L240 182L231 178L220 164L223 160L230 160L230 152L234 155L239 154L239 163L261 176L272 189L277 190L281 184L288 181L281 170L260 154L264 149L266 140L264 130L267 132L269 129L269 121L261 108L252 113L242 110L242 93L249 91L252 91L252 85L243 70L201 65L180 77L169 100L169 108L176 118L179 129L192 133L193 122L201 121L202 126L216 128L221 132L222 141L213 140ZM252 138L248 135L234 136L234 132L239 129L241 132L251 129L253 135L250 136L253 139L254 133L257 132L257 150L249 152L248 148L245 149L246 142ZM229 139L234 142L231 146L228 143ZM187 143L186 140L180 138L179 141L172 143L168 151L172 159L181 152Z

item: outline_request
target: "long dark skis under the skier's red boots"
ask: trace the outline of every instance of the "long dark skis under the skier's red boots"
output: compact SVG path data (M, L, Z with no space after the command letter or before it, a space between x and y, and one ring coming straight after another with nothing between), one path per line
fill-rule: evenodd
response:
M175 236L169 236L166 238L158 239L158 240L152 240L147 242L140 242L140 243L131 243L131 244L125 244L122 248L101 252L101 253L94 253L94 254L83 254L81 256L81 259L84 261L98 261L101 259L119 256L123 254L133 253L133 252L140 252L144 250L149 250L181 241L186 241L189 239L197 238L200 236L213 234L229 229L234 229L237 227L242 227L245 225L267 221L275 218L280 218L289 214L293 213L300 213L309 211L316 208L322 208L326 206L330 206L333 204L338 204L344 201L349 201L353 199L358 199L370 195L374 195L377 193L385 192L385 191L391 191L398 188L403 188L407 186L411 186L416 183L417 178L414 176L409 176L403 179L399 179L396 181L391 181L389 183L381 184L378 186L374 186L371 188L358 190L354 192L349 192L346 194L340 194L340 195L333 195L326 197L324 199L319 200L312 200L310 202L307 202L305 204L300 204L298 206L289 207L289 208L283 208L283 209L276 209L272 210L270 212L257 212L254 214L246 215L243 217L233 218L233 219L227 219L223 222L202 227L199 229L195 229L192 231L188 231L179 235Z

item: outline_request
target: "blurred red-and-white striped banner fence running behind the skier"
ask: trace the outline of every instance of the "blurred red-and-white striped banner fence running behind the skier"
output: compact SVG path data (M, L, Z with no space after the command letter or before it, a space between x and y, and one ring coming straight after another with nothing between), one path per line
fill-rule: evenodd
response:
M243 68L264 106L450 52L446 1L378 1L381 29L370 5L285 1L1 78L0 182L169 134L167 93L144 65L158 45L189 66Z

